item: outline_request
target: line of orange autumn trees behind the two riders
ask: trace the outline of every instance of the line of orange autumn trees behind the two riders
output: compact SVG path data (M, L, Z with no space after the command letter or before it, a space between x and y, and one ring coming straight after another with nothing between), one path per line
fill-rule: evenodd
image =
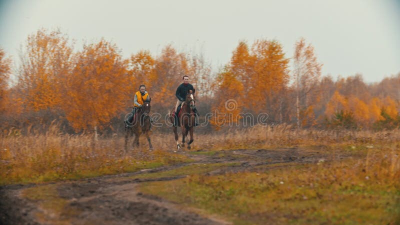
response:
M215 72L204 55L178 52L172 45L159 55L140 50L123 58L117 45L103 38L75 50L67 34L41 28L28 35L17 63L0 46L0 127L45 131L57 123L60 132L118 132L140 84L152 97L151 111L164 115L176 102L183 75L196 89L200 122L217 110L233 120L240 120L235 116L240 113L263 112L271 124L304 128L400 125L400 73L376 83L365 83L361 74L333 79L321 74L323 64L304 38L293 47L288 56L278 40L240 41ZM226 108L229 99L233 109ZM223 128L218 123L211 117L201 128Z

